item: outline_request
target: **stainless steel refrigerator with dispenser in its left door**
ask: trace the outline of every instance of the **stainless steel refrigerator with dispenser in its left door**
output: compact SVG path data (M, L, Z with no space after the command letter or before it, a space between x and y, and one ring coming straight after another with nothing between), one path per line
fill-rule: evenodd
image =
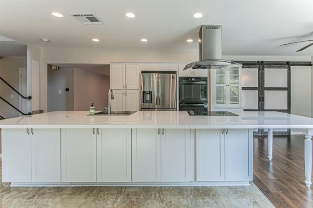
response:
M176 111L176 72L142 71L141 111Z

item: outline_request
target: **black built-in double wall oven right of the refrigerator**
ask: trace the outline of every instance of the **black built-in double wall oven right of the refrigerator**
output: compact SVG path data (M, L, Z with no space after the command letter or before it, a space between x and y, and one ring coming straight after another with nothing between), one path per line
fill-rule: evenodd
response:
M207 77L179 77L179 111L207 111Z

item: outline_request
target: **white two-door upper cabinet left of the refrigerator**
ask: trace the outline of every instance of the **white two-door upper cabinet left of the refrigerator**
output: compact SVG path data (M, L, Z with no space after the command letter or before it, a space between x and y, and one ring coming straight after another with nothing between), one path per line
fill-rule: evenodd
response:
M111 89L139 89L138 64L111 64L110 66Z

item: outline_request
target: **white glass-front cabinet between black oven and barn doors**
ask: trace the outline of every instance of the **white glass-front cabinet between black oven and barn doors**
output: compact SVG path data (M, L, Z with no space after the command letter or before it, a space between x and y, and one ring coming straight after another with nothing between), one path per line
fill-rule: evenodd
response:
M215 107L241 107L241 65L212 70L211 94Z

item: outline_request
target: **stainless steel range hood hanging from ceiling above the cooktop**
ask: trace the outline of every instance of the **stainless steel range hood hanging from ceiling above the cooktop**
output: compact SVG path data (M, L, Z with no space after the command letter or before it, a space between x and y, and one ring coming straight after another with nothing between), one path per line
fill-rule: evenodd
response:
M222 59L222 25L201 25L199 31L199 61L187 64L183 70L223 69L237 62Z

